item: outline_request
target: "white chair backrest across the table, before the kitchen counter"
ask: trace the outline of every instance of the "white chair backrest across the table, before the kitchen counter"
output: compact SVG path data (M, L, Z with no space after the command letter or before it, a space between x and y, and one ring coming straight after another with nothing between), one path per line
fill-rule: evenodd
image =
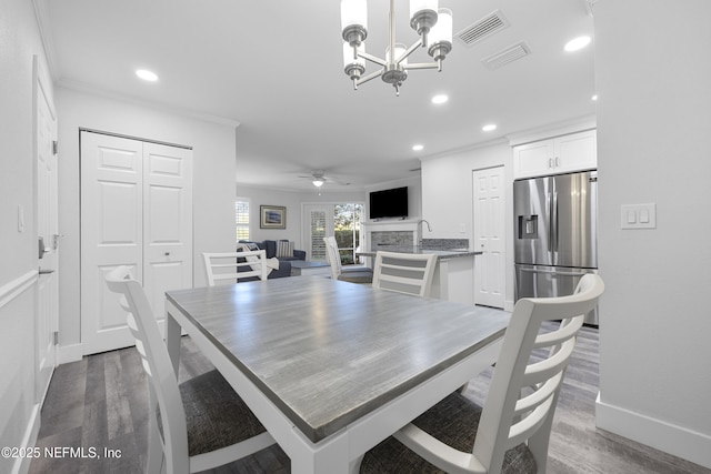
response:
M434 254L379 251L373 268L373 288L429 296L435 264Z

